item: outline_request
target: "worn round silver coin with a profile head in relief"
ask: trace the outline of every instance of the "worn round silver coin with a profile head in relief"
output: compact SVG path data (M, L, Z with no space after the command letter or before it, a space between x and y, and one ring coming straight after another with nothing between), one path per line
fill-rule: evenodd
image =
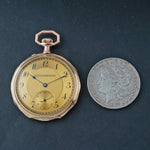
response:
M131 104L140 91L136 69L120 58L107 58L96 63L88 74L87 86L99 105L119 109Z

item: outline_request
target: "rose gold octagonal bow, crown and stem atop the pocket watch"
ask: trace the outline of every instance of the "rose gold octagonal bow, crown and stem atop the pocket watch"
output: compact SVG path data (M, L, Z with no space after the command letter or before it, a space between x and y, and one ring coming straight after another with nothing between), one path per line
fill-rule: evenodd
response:
M42 42L39 41L39 36L42 34L53 34L57 37L57 40L54 42L51 38L44 38ZM53 30L43 30L35 35L35 42L44 47L43 53L50 53L50 47L58 44L60 42L60 35Z

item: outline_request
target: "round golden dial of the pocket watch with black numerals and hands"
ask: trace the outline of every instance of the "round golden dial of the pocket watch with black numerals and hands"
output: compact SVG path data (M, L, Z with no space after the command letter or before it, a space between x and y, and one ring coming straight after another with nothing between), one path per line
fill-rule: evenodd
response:
M15 75L16 97L32 113L57 114L68 107L75 95L76 79L72 68L54 56L30 59Z

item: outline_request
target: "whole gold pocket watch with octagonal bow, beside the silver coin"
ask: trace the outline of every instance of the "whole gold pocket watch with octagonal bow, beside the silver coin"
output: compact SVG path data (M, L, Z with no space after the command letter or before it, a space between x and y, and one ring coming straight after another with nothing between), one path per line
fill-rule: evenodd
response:
M41 34L53 34L57 40L43 38L40 42ZM16 69L11 82L13 101L29 118L61 118L77 102L81 87L78 73L65 58L50 52L50 47L60 42L58 33L43 30L35 35L35 42L44 51L33 54Z

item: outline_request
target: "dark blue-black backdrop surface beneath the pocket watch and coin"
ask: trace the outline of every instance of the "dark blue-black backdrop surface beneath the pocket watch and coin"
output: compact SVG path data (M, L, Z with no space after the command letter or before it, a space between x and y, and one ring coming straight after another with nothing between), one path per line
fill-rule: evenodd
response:
M15 68L42 52L34 35L60 33L54 53L77 69L82 89L77 105L61 120L39 122L13 104L10 82ZM147 0L0 1L1 150L150 150L150 2ZM142 88L121 110L96 104L87 75L98 61L120 57L138 70Z

